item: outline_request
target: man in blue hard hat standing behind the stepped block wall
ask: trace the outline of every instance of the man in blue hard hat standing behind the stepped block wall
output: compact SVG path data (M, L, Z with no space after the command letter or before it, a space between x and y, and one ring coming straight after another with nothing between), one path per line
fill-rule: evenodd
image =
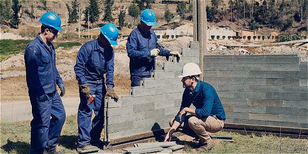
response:
M155 57L157 55L180 57L178 51L166 50L157 45L157 35L152 26L156 26L155 13L150 9L145 9L140 15L140 25L131 31L126 50L129 57L129 70L131 87L140 86L143 78L150 78L150 72L155 70Z

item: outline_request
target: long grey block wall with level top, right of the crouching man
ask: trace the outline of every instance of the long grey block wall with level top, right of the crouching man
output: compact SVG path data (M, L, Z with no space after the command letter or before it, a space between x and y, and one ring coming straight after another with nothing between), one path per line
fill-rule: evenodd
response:
M226 122L307 128L307 68L296 55L204 56Z

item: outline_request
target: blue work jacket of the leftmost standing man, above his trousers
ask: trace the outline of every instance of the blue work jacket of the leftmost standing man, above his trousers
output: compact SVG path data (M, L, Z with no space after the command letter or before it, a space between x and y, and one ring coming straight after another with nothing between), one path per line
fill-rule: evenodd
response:
M51 42L47 45L38 34L25 49L25 66L28 93L40 96L56 91L63 84L55 67L55 50Z

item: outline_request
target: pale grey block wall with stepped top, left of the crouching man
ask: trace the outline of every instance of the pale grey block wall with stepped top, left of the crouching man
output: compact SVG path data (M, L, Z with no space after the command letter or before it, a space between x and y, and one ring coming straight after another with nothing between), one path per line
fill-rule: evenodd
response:
M190 42L189 48L183 48L181 54L180 61L170 58L163 70L155 70L152 78L143 79L140 87L131 89L130 95L121 96L117 102L105 101L105 140L169 127L169 120L180 109L184 91L178 75L184 64L199 64L198 42Z

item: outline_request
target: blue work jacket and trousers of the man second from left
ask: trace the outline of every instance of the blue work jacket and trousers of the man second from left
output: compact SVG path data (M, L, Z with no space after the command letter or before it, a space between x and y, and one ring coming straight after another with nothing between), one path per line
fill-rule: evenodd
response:
M95 94L93 103L88 104L88 98L81 92L78 108L78 147L89 145L100 140L104 125L104 97L106 87L104 74L106 73L107 88L113 88L113 60L112 47L101 48L98 39L84 44L77 55L74 71L79 85L88 84L91 94ZM92 120L92 109L95 117Z

